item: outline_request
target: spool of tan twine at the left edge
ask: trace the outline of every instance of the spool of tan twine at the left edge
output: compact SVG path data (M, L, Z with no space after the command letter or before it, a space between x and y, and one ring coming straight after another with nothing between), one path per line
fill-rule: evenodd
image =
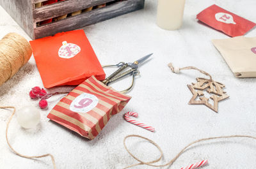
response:
M8 33L0 40L0 85L9 80L29 61L29 42L17 33Z

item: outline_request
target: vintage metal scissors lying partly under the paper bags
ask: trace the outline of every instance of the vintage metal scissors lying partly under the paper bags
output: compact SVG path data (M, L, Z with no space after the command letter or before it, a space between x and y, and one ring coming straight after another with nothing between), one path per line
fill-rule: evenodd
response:
M144 62L145 60L148 59L148 57L150 57L150 55L146 55L144 57L142 57L141 59L138 59L137 61L134 62L119 62L118 64L111 64L111 65L105 65L102 66L102 68L106 68L106 67L120 67L118 70L116 70L114 73L112 73L109 77L107 77L105 80L102 80L102 83L105 85L109 85L111 82L114 82L115 80L118 80L122 77L125 77L127 75L132 75L132 84L130 87L128 87L127 89L125 89L124 91L121 92L128 92L132 89L133 85L134 85L134 78L136 75L140 74L140 71L138 71L138 67L140 66L140 64L142 62ZM124 71L126 68L129 68L127 71Z

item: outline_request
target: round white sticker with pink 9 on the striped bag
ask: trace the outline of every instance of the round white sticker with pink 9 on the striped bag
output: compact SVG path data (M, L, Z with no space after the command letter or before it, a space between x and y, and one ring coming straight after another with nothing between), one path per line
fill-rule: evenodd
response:
M83 93L72 101L69 109L73 112L86 113L99 103L99 99L93 94Z

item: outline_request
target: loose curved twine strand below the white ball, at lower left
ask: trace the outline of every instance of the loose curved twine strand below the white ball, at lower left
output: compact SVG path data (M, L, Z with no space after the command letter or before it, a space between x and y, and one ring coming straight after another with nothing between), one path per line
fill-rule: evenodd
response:
M54 156L52 156L52 154L43 154L41 156L26 156L24 154L20 154L19 152L15 151L15 149L13 149L12 145L10 144L9 142L9 138L8 138L8 129L9 129L9 124L10 122L12 121L12 117L13 115L15 114L15 107L0 107L0 108L13 108L13 112L12 112L12 115L10 116L10 118L8 119L7 121L7 124L6 124L6 131L5 131L5 138L6 138L6 142L8 144L8 146L10 147L10 149L15 153L17 154L18 156L22 157L22 158L28 158L28 159L33 159L33 158L44 158L44 157L47 157L47 156L50 156L51 157L51 160L52 160L52 165L54 167L54 169L56 169L56 163L55 163L55 159L54 159Z

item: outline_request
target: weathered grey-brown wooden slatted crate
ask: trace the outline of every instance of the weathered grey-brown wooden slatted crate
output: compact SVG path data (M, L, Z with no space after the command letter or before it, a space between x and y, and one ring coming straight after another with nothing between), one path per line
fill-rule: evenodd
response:
M65 0L36 8L35 4L47 0L0 0L0 5L29 34L32 39L51 36L63 31L117 17L144 7L145 0ZM45 25L38 25L49 18L56 18L68 13L84 10L92 6L107 3L103 8L96 8L76 16L70 16ZM70 15L70 14L68 14Z

